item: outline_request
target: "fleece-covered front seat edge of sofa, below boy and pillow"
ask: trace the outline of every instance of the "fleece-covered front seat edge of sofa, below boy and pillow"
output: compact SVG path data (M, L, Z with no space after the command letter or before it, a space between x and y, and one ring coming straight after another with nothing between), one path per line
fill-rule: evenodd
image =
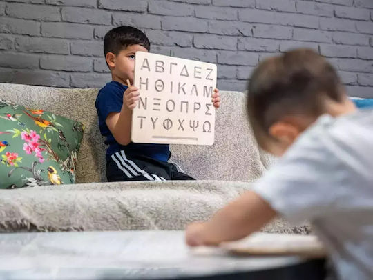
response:
M249 190L248 182L90 183L0 190L0 232L183 230ZM267 232L307 233L276 219Z

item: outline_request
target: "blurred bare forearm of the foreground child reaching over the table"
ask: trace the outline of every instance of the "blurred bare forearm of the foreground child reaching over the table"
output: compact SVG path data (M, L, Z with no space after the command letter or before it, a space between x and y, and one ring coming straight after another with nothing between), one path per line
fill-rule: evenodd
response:
M216 212L210 221L189 225L186 232L187 244L213 246L223 241L241 239L260 229L276 214L258 194L246 192Z

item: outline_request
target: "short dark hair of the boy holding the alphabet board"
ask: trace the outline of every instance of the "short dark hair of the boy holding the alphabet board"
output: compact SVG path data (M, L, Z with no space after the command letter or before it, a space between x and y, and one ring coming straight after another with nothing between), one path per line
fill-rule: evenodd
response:
M150 42L146 35L132 26L118 26L106 33L104 38L104 55L108 52L119 54L121 50L132 45L141 45L150 51Z

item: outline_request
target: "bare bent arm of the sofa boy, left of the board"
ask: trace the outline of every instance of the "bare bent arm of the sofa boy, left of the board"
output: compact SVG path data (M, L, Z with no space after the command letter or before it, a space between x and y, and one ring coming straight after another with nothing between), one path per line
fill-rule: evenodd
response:
M120 112L112 112L106 118L106 125L115 140L121 145L131 142L132 110L135 108L140 93L135 86L129 86L123 94L123 105Z

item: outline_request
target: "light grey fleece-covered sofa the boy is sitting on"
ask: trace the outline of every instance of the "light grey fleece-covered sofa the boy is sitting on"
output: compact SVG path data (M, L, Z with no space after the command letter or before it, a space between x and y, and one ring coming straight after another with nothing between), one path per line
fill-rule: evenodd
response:
M250 188L273 158L260 151L245 115L245 94L221 92L213 146L172 145L171 161L197 181L105 182L105 147L95 110L97 88L65 89L0 83L0 99L48 110L85 125L77 183L0 190L0 232L182 230L208 219ZM3 174L0 174L0 179ZM307 233L285 221L269 232Z

